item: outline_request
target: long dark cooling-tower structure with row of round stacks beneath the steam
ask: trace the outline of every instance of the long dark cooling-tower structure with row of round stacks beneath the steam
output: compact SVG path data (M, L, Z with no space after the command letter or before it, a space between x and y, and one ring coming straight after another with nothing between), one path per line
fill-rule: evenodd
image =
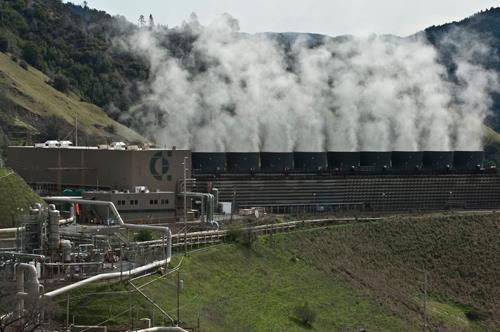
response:
M483 151L192 153L196 191L269 212L497 209Z

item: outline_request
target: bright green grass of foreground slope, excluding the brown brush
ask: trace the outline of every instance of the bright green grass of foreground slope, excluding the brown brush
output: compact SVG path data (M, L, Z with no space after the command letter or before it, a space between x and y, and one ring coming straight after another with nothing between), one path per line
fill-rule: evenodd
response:
M357 331L367 327L370 331L411 330L403 320L346 282L293 258L280 246L270 248L265 239L260 239L251 250L223 245L191 254L182 262L185 288L181 293L181 320L187 326L196 326L199 317L202 331L301 331L307 328L297 322L292 311L307 301L317 314L314 330ZM175 281L176 276L172 275L144 289L172 315L175 315ZM123 287L112 286L115 290ZM91 288L91 291L105 290L105 285ZM126 310L127 303L124 294L113 299L93 295L77 299L71 307L85 308L72 314L78 323L90 324ZM152 307L144 300L134 296L133 303L140 308L139 317L152 316ZM113 323L125 325L127 319L123 315Z

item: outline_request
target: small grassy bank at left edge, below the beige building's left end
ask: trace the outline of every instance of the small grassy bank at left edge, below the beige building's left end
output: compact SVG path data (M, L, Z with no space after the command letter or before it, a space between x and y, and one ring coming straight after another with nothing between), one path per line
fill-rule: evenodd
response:
M9 169L0 168L0 228L15 227L23 212L36 202L42 200L23 179Z

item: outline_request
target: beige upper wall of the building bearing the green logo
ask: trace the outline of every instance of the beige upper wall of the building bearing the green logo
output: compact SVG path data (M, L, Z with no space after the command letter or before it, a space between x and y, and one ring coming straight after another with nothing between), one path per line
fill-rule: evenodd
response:
M88 148L8 147L7 165L31 185L176 191L183 177L191 176L189 150L110 150Z

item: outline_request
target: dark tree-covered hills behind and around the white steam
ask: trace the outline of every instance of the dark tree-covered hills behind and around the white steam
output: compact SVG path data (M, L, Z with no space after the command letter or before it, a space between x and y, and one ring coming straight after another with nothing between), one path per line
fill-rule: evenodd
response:
M145 15L148 15L145 8ZM142 29L150 28L144 20ZM86 4L76 5L63 3L60 0L4 0L0 2L0 51L5 53L22 68L32 66L47 75L46 82L61 93L76 100L94 104L101 108L109 117L131 127L143 131L137 126L133 117L129 117L131 107L136 105L144 89L147 89L149 78L149 64L145 59L125 48L120 47L120 40L141 29L138 25L125 20L123 17L112 17L109 14L87 7ZM456 28L466 28L468 37L463 34L450 34ZM186 34L182 29L163 27L170 31L162 46L168 48L169 53L185 61L189 58L192 44L196 36ZM456 43L443 43L443 36L449 34ZM322 35L296 33L269 33L277 40L288 54L292 43L299 37L308 36L308 47L314 48L323 41ZM424 36L433 43L440 54L441 61L447 65L451 77L453 66L449 61L450 54L456 51L454 47L470 47L474 39L488 45L492 56L478 58L481 65L500 72L500 8L474 14L460 22L452 22L442 26L432 26L417 35ZM409 36L406 38L413 38ZM335 37L338 40L349 36ZM458 45L458 46L457 46ZM203 70L205 65L196 62L196 70ZM193 61L192 59L190 61ZM289 68L294 70L293 56L289 59ZM0 68L1 69L1 68ZM23 143L23 137L30 137L28 129L38 132L37 138L54 136L50 126L43 121L28 121L29 126L16 124L16 119L26 122L25 117L18 116L24 109L12 98L6 98L5 92L0 92L0 106L3 115L0 120L0 145L6 145L14 139L16 143ZM30 98L31 96L27 96ZM487 125L495 131L500 129L500 98L494 96L494 114L487 119ZM77 110L72 110L72 112ZM61 118L64 126L68 126L68 114ZM158 121L161 121L159 119ZM56 121L57 122L57 121ZM99 129L106 131L110 136L115 134L115 126L103 124ZM99 125L98 125L99 127ZM13 129L14 128L14 129ZM19 132L25 132L24 134ZM68 130L64 131L67 135ZM141 132L141 134L145 134ZM63 135L63 136L64 136ZM104 135L105 136L105 135ZM104 137L103 136L103 137ZM120 135L118 135L120 136ZM122 136L123 137L123 136ZM500 144L495 139L497 135L488 131L486 150L490 159L498 159L497 151ZM62 137L51 137L62 138Z

